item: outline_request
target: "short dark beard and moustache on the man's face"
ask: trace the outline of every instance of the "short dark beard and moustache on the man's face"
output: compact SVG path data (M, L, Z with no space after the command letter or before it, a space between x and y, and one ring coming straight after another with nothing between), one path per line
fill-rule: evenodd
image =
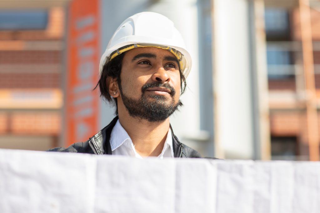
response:
M153 100L148 100L145 96L145 90L152 87L165 87L171 90L171 102L168 104L168 98L164 95L149 95ZM151 84L145 84L141 88L142 95L139 100L134 100L132 98L124 95L119 84L119 92L121 95L122 102L125 108L128 110L129 115L135 118L146 119L149 122L164 121L178 108L180 105L180 100L177 104L174 104L175 89L170 86L170 84L161 84L160 82L154 82Z

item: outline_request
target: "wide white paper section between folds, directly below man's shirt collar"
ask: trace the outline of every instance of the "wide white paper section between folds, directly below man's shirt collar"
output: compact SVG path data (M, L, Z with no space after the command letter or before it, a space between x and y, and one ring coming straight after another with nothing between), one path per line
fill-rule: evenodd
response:
M98 158L95 212L174 212L174 159Z

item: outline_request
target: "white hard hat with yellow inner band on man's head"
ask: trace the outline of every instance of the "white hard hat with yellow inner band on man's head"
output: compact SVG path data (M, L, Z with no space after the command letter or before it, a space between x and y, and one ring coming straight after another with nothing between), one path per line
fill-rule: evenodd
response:
M183 75L188 76L192 62L184 40L173 26L173 22L156 12L140 12L122 22L101 56L100 74L105 63L117 55L137 47L167 49L177 57Z

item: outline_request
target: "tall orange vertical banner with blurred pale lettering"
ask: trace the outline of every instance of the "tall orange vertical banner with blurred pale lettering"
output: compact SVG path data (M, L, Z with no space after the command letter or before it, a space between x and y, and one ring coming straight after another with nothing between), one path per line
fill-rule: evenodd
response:
M65 145L86 141L98 130L99 0L73 0L68 10Z

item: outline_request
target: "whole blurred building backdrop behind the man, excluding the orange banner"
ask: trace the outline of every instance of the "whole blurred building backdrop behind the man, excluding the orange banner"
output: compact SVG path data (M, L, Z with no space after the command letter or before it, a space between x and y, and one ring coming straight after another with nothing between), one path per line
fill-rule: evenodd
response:
M71 2L0 1L0 148L76 142L63 137ZM101 0L99 56L125 18L162 13L193 58L184 107L171 118L179 139L204 156L309 160L310 138L319 149L320 4L308 3L314 74L305 72L298 0ZM96 110L92 133L114 117L103 101Z

